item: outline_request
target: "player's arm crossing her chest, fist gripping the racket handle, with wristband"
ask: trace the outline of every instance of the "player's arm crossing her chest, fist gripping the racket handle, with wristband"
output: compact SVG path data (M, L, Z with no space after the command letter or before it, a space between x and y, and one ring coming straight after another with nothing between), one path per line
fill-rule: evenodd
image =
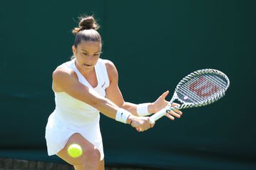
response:
M150 124L148 117L135 117L134 115L130 115L129 112L121 110L121 108L111 102L111 100L101 97L95 90L81 84L78 81L76 73L71 69L58 68L53 72L53 90L66 92L77 100L81 100L82 102L86 102L88 105L95 107L102 112L103 115L116 119L119 122L128 124L133 122L131 125L143 129L142 131L153 127L153 124Z

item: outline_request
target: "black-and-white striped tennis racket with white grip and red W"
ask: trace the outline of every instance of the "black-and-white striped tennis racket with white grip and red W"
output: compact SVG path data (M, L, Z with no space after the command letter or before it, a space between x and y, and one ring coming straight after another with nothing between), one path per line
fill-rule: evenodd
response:
M150 123L171 110L210 105L223 97L229 86L227 75L219 70L203 69L190 73L180 80L168 105L150 117ZM175 100L178 100L180 105L171 107Z

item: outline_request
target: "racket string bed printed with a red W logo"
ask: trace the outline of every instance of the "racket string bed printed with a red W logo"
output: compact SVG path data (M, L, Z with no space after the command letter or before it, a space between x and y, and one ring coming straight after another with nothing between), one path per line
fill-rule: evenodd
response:
M222 76L207 73L197 75L178 88L178 97L185 102L201 102L209 100L227 87Z

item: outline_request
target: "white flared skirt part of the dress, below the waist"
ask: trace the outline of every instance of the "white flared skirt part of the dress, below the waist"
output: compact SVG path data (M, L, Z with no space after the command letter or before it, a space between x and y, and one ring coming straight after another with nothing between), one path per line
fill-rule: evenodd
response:
M101 160L104 159L103 142L99 122L91 122L87 126L75 127L61 121L56 112L48 117L46 124L46 145L48 156L57 154L65 147L68 139L75 133L81 134L88 142L93 144L95 149L101 153Z

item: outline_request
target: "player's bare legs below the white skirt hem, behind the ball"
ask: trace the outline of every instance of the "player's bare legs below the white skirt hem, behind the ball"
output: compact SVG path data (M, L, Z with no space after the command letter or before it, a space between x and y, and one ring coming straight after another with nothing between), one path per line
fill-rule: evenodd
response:
M73 144L79 144L83 149L83 154L77 158L68 155L68 147ZM98 149L94 149L93 144L88 142L81 134L73 134L66 143L66 146L57 154L61 159L74 165L76 170L98 170L101 166L101 154Z

